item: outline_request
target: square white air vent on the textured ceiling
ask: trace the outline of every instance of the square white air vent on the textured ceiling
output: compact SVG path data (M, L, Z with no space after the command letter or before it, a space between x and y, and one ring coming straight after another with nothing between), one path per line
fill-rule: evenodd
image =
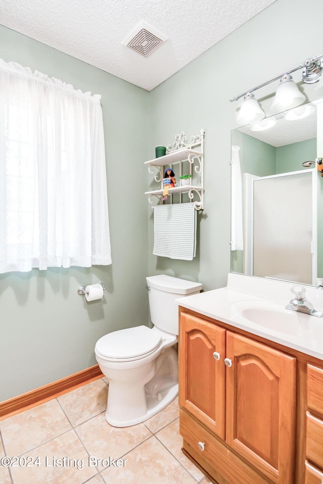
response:
M148 57L166 40L168 40L166 35L158 32L158 30L146 22L141 21L121 43L138 52L138 54Z

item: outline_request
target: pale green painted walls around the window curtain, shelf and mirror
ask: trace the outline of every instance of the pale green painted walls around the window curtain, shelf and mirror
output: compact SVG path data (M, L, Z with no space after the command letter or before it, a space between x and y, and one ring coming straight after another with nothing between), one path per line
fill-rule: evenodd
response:
M198 13L194 12L194 16ZM304 18L310 31L304 32ZM321 0L277 0L151 92L0 28L0 57L102 95L113 264L37 270L0 278L0 400L95 364L102 334L146 322L144 277L167 273L225 286L230 271L231 131L240 92L320 53ZM196 18L198 21L198 18ZM307 22L308 23L308 22ZM299 72L294 79L299 82ZM307 100L314 87L299 83ZM276 83L256 93L267 115ZM152 255L153 211L143 192L143 161L156 145L205 130L204 210L198 213L197 256L191 262ZM136 180L136 183L134 183ZM100 302L86 304L78 285L102 281Z

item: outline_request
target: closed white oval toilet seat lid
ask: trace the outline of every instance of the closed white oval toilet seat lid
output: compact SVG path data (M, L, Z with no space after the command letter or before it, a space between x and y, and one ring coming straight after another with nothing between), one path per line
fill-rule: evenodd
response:
M152 353L160 344L161 336L147 326L121 329L100 338L95 350L105 358L136 358Z

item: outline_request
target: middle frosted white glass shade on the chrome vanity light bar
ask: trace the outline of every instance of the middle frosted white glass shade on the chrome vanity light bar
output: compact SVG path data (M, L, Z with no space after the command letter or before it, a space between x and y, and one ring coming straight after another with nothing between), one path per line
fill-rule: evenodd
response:
M304 94L300 92L292 76L286 74L281 78L272 104L272 110L275 112L286 111L287 109L299 106L304 101Z

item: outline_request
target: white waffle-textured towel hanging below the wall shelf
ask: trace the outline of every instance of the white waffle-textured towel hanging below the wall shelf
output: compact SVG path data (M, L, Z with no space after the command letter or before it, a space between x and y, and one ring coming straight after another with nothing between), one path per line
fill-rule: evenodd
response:
M153 228L155 256L193 260L196 252L194 203L156 205Z

